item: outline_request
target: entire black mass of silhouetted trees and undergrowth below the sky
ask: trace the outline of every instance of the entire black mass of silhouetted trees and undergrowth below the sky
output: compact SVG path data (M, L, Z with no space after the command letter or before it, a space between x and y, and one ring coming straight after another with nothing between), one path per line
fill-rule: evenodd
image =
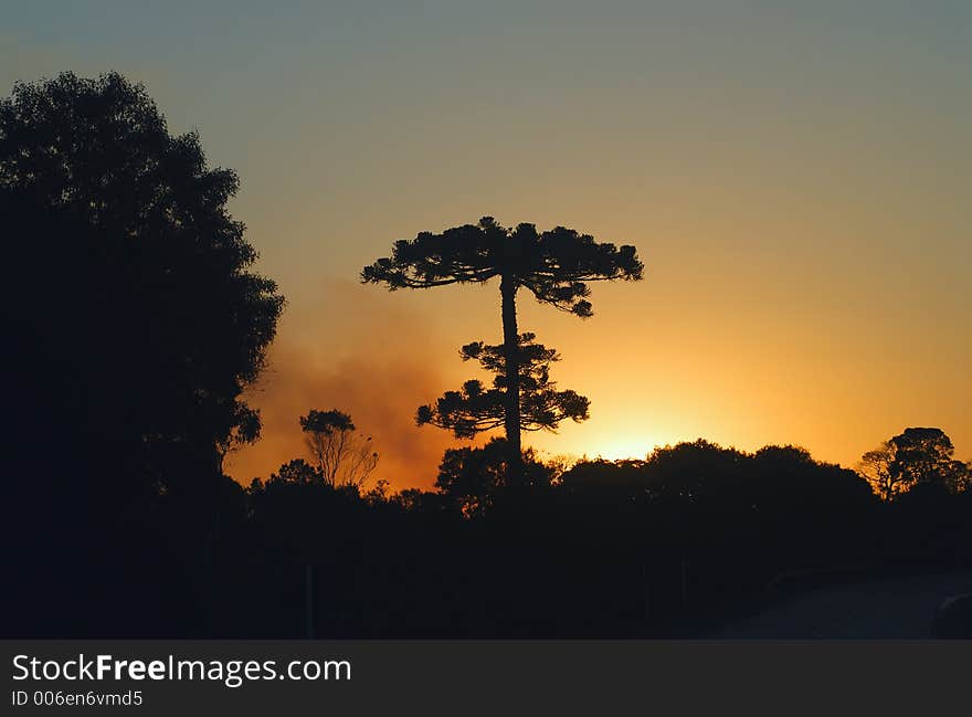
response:
M226 210L237 186L118 74L0 101L4 636L685 636L792 576L972 567L972 473L940 429L862 446L855 470L790 445L573 464L524 449L589 403L519 331L516 289L583 318L588 282L643 265L490 218L399 241L362 280L499 280L503 344L462 350L493 386L416 422L505 435L446 451L434 489L392 493L352 417L307 405L306 455L241 486L223 460L260 437L242 397L284 299Z

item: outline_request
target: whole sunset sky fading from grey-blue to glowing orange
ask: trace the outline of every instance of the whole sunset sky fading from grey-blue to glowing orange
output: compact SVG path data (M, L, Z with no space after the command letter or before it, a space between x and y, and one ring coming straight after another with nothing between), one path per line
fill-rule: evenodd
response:
M139 7L135 7L138 4ZM358 283L395 239L493 215L632 243L640 283L520 328L591 419L528 442L643 457L708 440L853 465L906 426L972 458L972 3L12 2L0 87L145 83L236 169L288 305L252 391L249 483L339 408L378 475L427 486L455 441L415 408L500 339L499 291Z

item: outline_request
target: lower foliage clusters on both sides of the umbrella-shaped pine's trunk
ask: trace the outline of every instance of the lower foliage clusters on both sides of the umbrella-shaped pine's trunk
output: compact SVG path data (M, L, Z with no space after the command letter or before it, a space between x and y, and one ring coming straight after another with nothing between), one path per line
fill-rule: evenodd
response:
M588 419L590 401L575 391L558 391L550 380L550 363L560 356L552 348L533 342L536 335L520 334L517 347L519 371L519 429L521 431L553 431L567 419L580 423ZM469 380L458 391L446 391L434 404L419 407L415 421L431 423L453 432L457 439L471 439L477 433L505 424L506 355L503 346L486 346L483 341L462 348L464 361L478 360L487 371L495 373L493 388L482 381Z

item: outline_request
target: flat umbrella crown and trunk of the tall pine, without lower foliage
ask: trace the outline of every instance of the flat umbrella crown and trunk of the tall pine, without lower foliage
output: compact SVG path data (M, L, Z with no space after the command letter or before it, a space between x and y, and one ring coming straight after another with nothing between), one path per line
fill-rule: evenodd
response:
M361 280L395 291L499 278L506 358L504 426L514 475L522 473L517 292L524 287L542 304L587 318L593 313L588 283L640 280L643 270L634 246L599 243L563 226L538 232L533 224L522 223L509 229L484 217L477 224L397 241L392 255L366 266Z

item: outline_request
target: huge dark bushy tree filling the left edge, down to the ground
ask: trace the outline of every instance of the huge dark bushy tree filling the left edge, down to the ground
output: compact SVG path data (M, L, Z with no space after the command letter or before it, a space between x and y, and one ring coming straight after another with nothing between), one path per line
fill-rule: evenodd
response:
M232 170L207 165L196 133L170 134L145 88L116 73L18 83L0 98L3 288L17 347L17 428L3 460L4 473L25 477L4 482L13 495L3 503L17 509L8 525L36 547L22 574L43 566L51 581L24 593L53 600L70 586L87 624L150 610L144 594L124 598L157 579L150 549L212 555L204 546L232 487L222 457L258 435L241 397L283 298L253 271L256 251L226 209L237 186ZM179 529L156 540L163 524ZM103 583L99 594L115 584L115 602L85 602L88 583ZM40 636L71 611L38 601L23 614L45 615Z

